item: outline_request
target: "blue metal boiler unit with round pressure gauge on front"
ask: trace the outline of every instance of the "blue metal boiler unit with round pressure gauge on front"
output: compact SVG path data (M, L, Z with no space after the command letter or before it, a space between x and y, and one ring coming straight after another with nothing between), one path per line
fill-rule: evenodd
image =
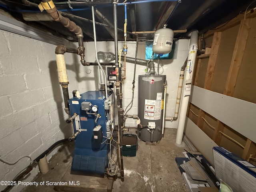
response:
M88 91L69 100L71 127L75 140L72 172L105 174L108 166L109 138L113 122L105 110L105 92ZM112 93L109 94L109 98ZM70 118L72 119L72 118Z

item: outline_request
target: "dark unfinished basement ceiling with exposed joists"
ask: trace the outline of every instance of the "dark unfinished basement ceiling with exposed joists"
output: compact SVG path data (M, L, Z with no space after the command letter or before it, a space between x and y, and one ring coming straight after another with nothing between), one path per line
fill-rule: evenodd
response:
M51 20L46 11L40 12L37 7L40 0L0 0L0 8L9 12L17 20L55 36L76 41L74 33L60 23ZM56 8L63 16L78 24L84 32L84 41L93 40L91 6L95 6L96 34L98 41L114 40L113 0L53 0ZM124 0L119 0L119 3ZM148 32L162 28L187 30L187 33L176 33L174 38L187 37L191 30L197 29L199 34L225 24L230 19L256 6L255 0L127 0L127 31ZM124 6L118 4L118 40L123 40ZM139 34L145 40L153 39L152 33ZM128 40L135 36L128 33Z

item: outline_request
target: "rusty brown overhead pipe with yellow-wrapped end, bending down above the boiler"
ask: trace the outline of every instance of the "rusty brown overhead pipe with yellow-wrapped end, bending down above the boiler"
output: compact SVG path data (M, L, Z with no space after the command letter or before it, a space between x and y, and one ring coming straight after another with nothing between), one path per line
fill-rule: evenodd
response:
M64 27L68 28L70 31L74 32L78 38L78 49L79 49L79 55L81 57L81 63L82 65L86 65L86 62L84 60L84 36L82 29L80 26L76 25L73 21L71 21L69 18L64 17L61 15L60 12L58 12L57 8L55 7L52 0L42 0L41 4L39 4L40 10L46 10L48 14L57 22L60 22Z

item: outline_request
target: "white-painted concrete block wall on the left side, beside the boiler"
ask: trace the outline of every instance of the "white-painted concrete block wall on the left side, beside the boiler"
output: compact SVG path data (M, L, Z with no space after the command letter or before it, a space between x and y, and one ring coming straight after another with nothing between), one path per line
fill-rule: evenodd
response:
M0 30L0 155L15 162L34 160L54 142L69 137L62 89L58 83L55 45ZM67 46L77 46L66 41ZM65 54L69 91L78 89L78 56ZM53 150L50 157L57 151ZM11 181L30 164L0 161L0 180ZM25 181L38 173L34 168ZM0 186L3 190L6 186ZM20 191L16 186L11 191Z

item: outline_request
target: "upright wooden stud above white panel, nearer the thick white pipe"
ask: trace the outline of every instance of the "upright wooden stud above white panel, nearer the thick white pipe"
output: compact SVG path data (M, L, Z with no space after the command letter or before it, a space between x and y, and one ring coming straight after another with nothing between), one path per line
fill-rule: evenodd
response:
M210 90L212 86L212 78L213 78L214 69L216 66L218 50L220 47L221 34L222 32L215 32L213 35L212 48L211 48L212 52L210 54L210 58L207 66L207 71L206 71L206 76L204 81L204 89Z

